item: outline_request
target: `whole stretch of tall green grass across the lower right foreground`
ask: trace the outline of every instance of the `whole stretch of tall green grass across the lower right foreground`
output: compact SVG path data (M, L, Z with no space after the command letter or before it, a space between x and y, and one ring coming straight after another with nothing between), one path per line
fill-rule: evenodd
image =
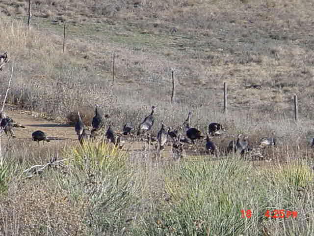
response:
M288 184L313 189L312 178L307 166L296 167L288 171L280 166L275 178L269 175L273 169L257 172L251 163L238 158L182 162L167 173L165 189L170 201L161 201L146 216L145 235L260 236L265 231L285 235L313 230L312 221L302 225L291 217L265 216L267 210L301 212L305 207L300 205L304 196ZM312 204L307 207L313 210ZM252 215L242 217L241 210L250 210Z

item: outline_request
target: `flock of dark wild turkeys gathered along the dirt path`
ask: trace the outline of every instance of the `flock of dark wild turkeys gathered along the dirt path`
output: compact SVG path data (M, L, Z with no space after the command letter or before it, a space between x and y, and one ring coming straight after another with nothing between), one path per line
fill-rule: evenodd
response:
M156 149L158 151L164 149L166 143L172 141L173 151L177 151L180 155L180 152L183 151L183 144L188 144L188 147L193 147L196 144L196 140L205 138L200 130L190 126L190 120L192 115L191 112L188 113L187 118L184 120L182 125L177 126L176 129L172 129L171 127L166 128L163 121L161 121L161 128L157 134L157 137L152 137L149 131L154 125L155 109L156 107L153 106L151 113L147 117L145 117L144 120L139 124L136 136L140 136L140 140L146 140L149 144L155 143ZM81 145L83 145L84 142L101 138L106 142L113 143L119 148L122 148L125 144L125 137L135 137L135 132L133 132L134 127L132 125L126 123L124 124L121 133L115 133L111 127L110 122L108 125L106 125L105 118L108 118L108 115L104 116L100 107L98 105L95 105L95 116L92 119L92 129L91 131L89 131L86 125L83 123L78 112L78 119L75 123L75 131L78 135L78 141ZM105 126L107 126L106 130ZM14 122L12 118L7 117L4 112L0 113L0 133L4 131L6 135L15 137L15 133L13 130L14 127L25 128L23 125ZM209 124L208 131L206 132L207 134L205 144L205 150L208 154L217 154L220 148L216 146L212 138L214 136L222 135L225 132L226 130L220 123L213 122ZM40 141L50 142L46 134L41 130L37 130L32 133L32 140L36 141L38 145ZM185 147L186 146L187 145L185 145ZM259 142L259 148L266 146L275 147L276 139L273 137L262 138ZM250 152L256 152L256 148L252 148L249 146L247 136L243 136L242 134L238 134L237 139L230 141L226 150L228 153L237 152L241 155Z

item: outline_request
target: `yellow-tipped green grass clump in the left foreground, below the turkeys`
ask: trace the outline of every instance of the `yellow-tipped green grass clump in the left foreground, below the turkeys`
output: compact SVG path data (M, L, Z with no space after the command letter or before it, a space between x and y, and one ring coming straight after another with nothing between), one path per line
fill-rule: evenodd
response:
M138 189L126 153L108 143L86 142L66 155L71 180L61 177L60 185L83 208L90 235L123 234Z

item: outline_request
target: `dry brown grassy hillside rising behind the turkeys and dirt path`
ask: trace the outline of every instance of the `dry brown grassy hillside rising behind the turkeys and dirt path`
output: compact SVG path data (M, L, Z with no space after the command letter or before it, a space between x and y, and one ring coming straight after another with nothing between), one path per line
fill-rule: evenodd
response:
M78 107L92 114L99 103L120 129L158 105L158 122L167 125L191 110L193 125L202 129L221 121L233 134L273 132L303 141L313 135L311 2L37 0L30 33L27 1L3 0L0 7L1 50L15 64L9 102L23 108L64 119ZM169 104L172 69L175 106ZM221 113L223 82L228 116ZM290 124L294 94L299 127Z

